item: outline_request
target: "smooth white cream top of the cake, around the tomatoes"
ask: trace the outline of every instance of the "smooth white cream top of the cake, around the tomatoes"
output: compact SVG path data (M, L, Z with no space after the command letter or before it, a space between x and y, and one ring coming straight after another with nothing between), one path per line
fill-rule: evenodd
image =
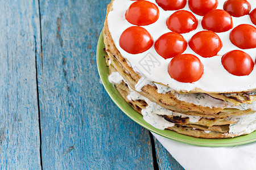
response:
M155 3L155 0L148 0L152 3ZM226 0L218 0L219 9L223 9L223 4ZM249 0L248 0L249 1ZM146 52L140 54L129 54L125 52L119 46L119 37L126 28L133 26L125 19L125 12L134 1L130 0L115 0L113 2L113 11L109 12L108 15L108 25L109 31L114 40L115 46L122 54L123 57L129 61L130 65L133 67L134 71L139 73L141 76L149 80L150 82L158 82L162 84L166 84L171 87L175 91L191 91L195 88L200 88L201 90L208 92L236 92L236 91L246 91L252 90L256 88L256 69L251 72L250 75L247 76L235 76L229 74L228 71L224 69L221 64L221 56L230 50L239 49L232 44L229 40L229 33L231 30L227 32L217 33L222 40L222 49L218 53L218 56L211 58L203 58L193 52L189 46L187 46L187 50L184 53L191 53L195 56L199 57L201 62L204 65L204 74L197 82L194 83L181 83L172 79L167 71L168 63L171 61L170 59L164 59L159 56L154 49L154 45L147 50ZM256 1L249 1L251 5L251 9L256 7ZM147 31L151 34L154 41L158 39L161 35L167 32L171 32L166 25L167 18L173 14L175 11L164 11L161 7L159 7L160 15L159 19L151 24L143 26ZM187 5L183 8L183 10L191 11ZM192 11L191 11L192 12ZM199 26L195 31L191 31L189 33L183 33L183 37L187 42L196 32L203 31L204 29L201 27L202 16L196 15L196 18L199 20ZM239 18L232 17L234 27L240 24L252 24L249 18L249 15L241 16ZM253 24L252 24L253 25ZM255 26L255 25L254 25ZM233 28L234 28L233 27ZM241 50L241 49L239 49ZM256 57L256 49L245 49L244 52L248 53L253 61L255 61Z

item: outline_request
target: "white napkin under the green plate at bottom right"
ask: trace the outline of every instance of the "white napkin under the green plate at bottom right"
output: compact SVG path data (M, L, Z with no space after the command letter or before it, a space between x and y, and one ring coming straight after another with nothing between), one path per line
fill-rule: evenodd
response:
M256 169L256 142L233 147L200 147L152 134L187 170Z

